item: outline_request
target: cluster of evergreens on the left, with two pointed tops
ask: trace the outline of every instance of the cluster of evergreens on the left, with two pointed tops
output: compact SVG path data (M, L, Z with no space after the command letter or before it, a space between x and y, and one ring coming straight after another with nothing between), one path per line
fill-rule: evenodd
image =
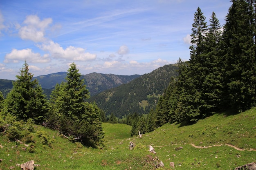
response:
M87 102L89 91L76 64L70 64L66 82L56 84L50 99L45 98L37 79L32 79L27 62L13 81L13 89L4 99L0 93L0 133L10 140L27 139L31 123L58 130L71 141L101 146L105 113L95 102ZM25 130L25 131L24 131Z

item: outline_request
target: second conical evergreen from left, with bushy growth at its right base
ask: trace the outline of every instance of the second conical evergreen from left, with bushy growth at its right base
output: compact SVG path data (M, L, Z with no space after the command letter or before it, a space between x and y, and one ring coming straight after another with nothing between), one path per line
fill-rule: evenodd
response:
M48 115L48 126L57 128L70 140L81 140L83 144L102 144L102 116L96 103L88 103L90 97L84 80L74 63L70 64L66 82L56 87L51 95L52 113Z

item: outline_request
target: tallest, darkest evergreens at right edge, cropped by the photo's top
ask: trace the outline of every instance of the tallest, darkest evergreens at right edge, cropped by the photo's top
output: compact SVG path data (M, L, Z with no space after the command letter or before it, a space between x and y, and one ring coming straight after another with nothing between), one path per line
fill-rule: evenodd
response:
M223 100L243 111L256 103L255 1L232 2L223 33Z

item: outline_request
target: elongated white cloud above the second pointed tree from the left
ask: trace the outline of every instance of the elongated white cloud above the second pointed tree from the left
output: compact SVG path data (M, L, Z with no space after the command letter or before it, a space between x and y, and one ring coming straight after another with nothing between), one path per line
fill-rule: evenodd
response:
M51 53L54 58L62 58L65 60L74 60L74 61L89 61L95 60L96 54L91 54L86 52L86 49L68 46L66 49L63 49L60 44L53 41L49 41L47 44L37 45L40 49L48 51Z

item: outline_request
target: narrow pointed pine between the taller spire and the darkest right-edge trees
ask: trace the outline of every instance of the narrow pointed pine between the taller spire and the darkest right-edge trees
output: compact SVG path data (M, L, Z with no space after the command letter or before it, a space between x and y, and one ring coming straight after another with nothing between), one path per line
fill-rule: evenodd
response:
M220 58L220 40L221 40L221 26L212 12L210 18L210 25L206 36L205 46L205 79L202 84L202 99L207 103L204 112L211 115L218 110L221 99L221 68L223 68Z

